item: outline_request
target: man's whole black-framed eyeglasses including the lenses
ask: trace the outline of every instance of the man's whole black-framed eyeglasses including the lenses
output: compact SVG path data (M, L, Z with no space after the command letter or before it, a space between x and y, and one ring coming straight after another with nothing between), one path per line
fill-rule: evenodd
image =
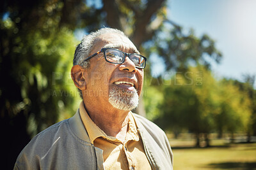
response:
M101 48L99 52L93 53L93 55L91 55L84 61L92 59L92 57L94 57L95 55L98 55L101 52L104 53L104 57L106 61L113 64L123 64L125 57L127 56L135 64L136 68L144 69L146 66L146 61L147 61L146 57L143 57L138 53L125 53L115 48Z

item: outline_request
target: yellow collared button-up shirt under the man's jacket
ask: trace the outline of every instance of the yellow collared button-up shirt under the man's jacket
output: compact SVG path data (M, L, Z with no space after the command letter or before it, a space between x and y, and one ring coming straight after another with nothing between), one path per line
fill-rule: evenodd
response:
M108 136L92 121L83 102L79 111L91 143L103 150L105 169L151 169L131 112L128 114L128 131L122 143L115 137Z

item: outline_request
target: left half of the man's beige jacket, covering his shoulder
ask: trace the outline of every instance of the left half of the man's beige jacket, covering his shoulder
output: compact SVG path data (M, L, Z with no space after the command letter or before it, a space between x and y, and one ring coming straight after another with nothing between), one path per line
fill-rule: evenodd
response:
M75 166L88 169L95 166L95 159L91 159L93 146L76 135L76 129L72 129L76 123L72 117L37 134L20 152L15 169L73 169Z

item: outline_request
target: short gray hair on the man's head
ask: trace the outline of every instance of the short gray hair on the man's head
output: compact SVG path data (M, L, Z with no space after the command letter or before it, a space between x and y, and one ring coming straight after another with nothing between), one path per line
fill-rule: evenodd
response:
M79 43L79 45L77 45L76 47L76 52L74 54L74 59L73 59L73 66L79 65L79 66L82 66L84 69L89 67L90 66L89 60L84 61L84 59L89 57L90 53L92 52L93 45L95 44L95 41L98 40L99 36L107 33L116 33L116 34L125 36L124 32L118 29L112 29L108 27L104 27L95 32L91 32L88 35L83 36L81 43ZM82 91L78 89L78 92L79 92L79 96L83 99Z

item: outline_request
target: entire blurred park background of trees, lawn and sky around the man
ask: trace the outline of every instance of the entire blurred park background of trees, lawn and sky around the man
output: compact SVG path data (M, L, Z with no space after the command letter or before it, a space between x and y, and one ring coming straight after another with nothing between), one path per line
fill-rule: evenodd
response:
M76 45L101 27L148 57L136 113L164 129L174 169L256 169L256 1L3 0L0 131L3 169L81 99Z

